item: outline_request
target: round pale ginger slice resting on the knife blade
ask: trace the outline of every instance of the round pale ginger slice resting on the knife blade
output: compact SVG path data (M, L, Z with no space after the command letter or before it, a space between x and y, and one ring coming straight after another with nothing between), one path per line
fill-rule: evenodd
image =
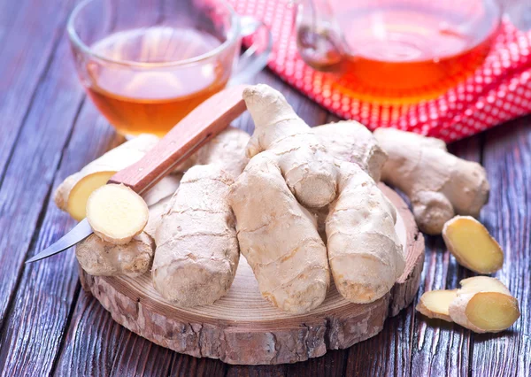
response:
M148 205L131 188L124 185L104 185L89 196L87 219L102 240L123 245L139 235L146 226Z

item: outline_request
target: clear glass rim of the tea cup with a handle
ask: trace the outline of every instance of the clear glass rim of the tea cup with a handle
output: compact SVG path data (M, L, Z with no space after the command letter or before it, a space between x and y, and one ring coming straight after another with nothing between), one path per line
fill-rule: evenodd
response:
M127 66L139 67L139 68L164 68L164 67L171 67L171 66L196 64L196 63L202 62L204 60L207 60L209 58L219 55L219 53L221 53L223 50L227 50L227 48L236 41L238 35L240 35L240 22L238 21L239 18L234 8L230 4L228 4L227 1L218 0L219 3L223 4L223 6L228 10L230 14L231 26L229 28L229 34L228 34L227 39L215 49L205 52L204 54L197 55L194 58L174 60L174 61L168 61L168 62L157 62L157 63L107 58L104 55L97 53L87 43L81 41L81 37L76 32L75 27L73 25L74 20L79 15L81 10L85 8L85 6L87 6L89 3L92 3L93 1L96 1L96 0L83 0L80 4L77 4L73 8L73 11L70 13L70 16L68 16L68 21L66 24L66 31L67 31L68 37L70 39L70 42L73 43L73 45L81 49L87 55L94 57L94 58L98 58L107 63L115 64L115 65L127 65ZM230 34L230 32L232 32L232 35Z

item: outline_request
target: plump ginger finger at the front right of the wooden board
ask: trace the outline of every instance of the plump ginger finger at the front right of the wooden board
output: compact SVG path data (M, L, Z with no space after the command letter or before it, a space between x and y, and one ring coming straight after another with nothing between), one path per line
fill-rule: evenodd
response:
M404 272L396 209L358 165L340 166L339 196L330 204L326 221L330 270L343 297L372 303Z

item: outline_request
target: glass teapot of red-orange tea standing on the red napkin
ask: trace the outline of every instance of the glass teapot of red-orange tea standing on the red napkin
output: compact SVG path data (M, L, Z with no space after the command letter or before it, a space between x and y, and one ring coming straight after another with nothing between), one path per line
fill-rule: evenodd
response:
M472 74L501 15L496 0L297 0L297 49L352 96L411 104Z

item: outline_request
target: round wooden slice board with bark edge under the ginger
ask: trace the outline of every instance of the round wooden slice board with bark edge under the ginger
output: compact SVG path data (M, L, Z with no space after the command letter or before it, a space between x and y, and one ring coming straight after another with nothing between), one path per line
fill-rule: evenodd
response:
M133 279L91 276L80 269L81 284L119 324L177 352L245 365L317 358L378 334L385 319L411 304L419 289L424 239L400 196L381 188L398 210L396 231L406 266L393 289L372 304L351 304L332 284L325 302L314 311L282 312L262 298L245 258L240 258L227 296L192 309L165 302L153 289L150 273Z

